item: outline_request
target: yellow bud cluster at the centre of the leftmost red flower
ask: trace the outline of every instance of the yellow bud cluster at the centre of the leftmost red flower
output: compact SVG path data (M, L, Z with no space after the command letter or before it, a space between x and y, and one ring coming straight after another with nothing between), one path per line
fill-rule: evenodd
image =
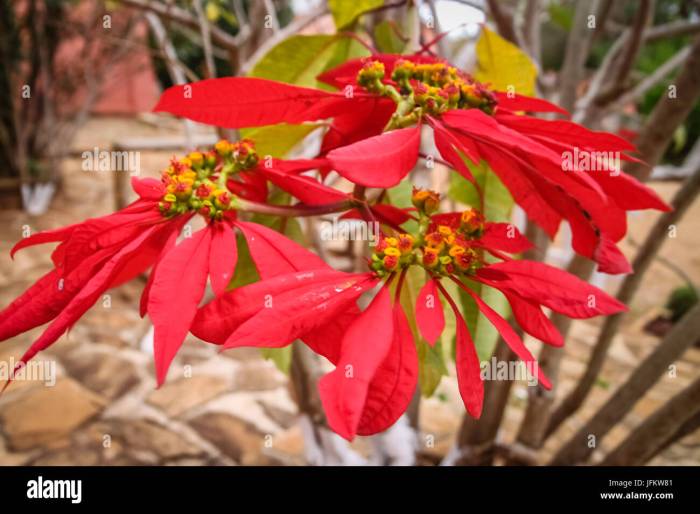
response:
M207 152L190 152L187 157L172 159L161 174L166 193L158 207L166 217L198 212L220 220L225 211L235 209L227 181L257 164L255 146L247 139L235 143L222 139Z

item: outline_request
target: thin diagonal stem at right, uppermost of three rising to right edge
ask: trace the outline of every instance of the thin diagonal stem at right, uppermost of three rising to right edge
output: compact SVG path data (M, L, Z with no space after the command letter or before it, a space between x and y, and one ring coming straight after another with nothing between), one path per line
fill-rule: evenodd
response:
M700 191L700 169L696 170L694 174L683 183L671 202L671 206L674 210L664 213L661 218L659 218L647 235L644 244L639 248L637 256L632 263L634 273L625 277L622 286L620 286L620 291L617 294L617 299L622 303L626 304L632 300L639 289L644 273L649 269L661 245L666 240L666 237L668 237L669 227L677 223L678 220L683 217L693 203L698 191ZM591 358L588 361L588 366L586 367L583 377L576 384L574 390L569 393L552 414L549 426L547 427L546 436L552 434L564 420L576 412L583 404L596 378L600 374L612 340L625 317L625 313L620 313L608 316L605 319L605 323L598 336L598 341L593 348Z

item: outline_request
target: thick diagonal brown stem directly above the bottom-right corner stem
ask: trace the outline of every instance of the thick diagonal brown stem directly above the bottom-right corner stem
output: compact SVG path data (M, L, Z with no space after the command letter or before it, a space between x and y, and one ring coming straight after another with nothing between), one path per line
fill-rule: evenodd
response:
M683 316L607 403L559 449L550 465L565 466L587 460L598 446L598 441L634 407L668 366L695 343L698 334L700 304Z

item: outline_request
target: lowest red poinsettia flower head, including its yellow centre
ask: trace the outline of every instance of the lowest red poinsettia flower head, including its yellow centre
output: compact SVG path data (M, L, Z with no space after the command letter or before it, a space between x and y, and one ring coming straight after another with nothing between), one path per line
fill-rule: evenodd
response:
M200 309L193 333L224 348L281 347L303 339L336 366L319 383L333 430L346 439L381 432L406 410L416 388L418 358L398 298L405 287L406 269L418 265L427 272L415 306L418 328L429 344L435 344L445 326L442 296L456 316L457 378L472 416L480 416L483 403L479 360L469 328L442 280L454 281L470 295L539 382L551 387L517 332L469 284L480 282L501 291L522 329L553 345L563 341L543 306L574 318L612 314L625 306L564 271L511 260L505 253L529 247L511 225L485 222L474 210L428 217L435 195L425 193L414 194L421 231L382 237L370 260L372 272L346 274L324 267L263 280ZM502 262L487 262L484 252ZM360 314L357 299L381 279L386 280ZM340 347L331 342L339 335Z

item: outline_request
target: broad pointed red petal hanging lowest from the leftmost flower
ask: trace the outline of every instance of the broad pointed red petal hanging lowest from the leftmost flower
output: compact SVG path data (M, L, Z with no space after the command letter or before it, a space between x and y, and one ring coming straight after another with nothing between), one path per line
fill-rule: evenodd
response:
M190 329L204 295L212 230L184 239L158 264L148 297L153 322L156 380L162 385L175 354Z

